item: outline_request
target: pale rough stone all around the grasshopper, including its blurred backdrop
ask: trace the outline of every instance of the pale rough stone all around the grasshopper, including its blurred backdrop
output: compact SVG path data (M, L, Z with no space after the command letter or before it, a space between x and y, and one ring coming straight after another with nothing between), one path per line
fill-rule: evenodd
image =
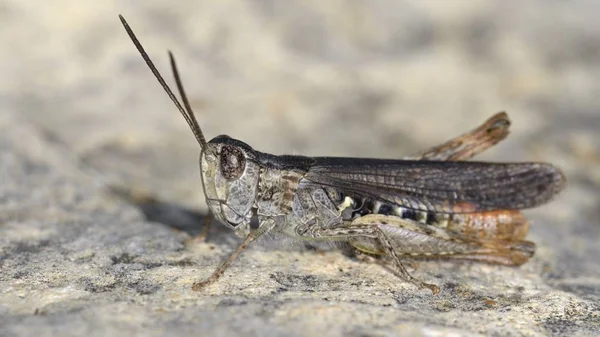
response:
M600 332L597 1L0 2L0 335L594 335ZM432 296L339 252L254 247L205 210L198 147L125 35L174 51L208 137L394 158L499 110L486 160L569 188L527 212L520 268L427 262ZM154 196L131 203L120 186ZM137 193L137 192L136 192ZM179 228L179 230L175 229Z

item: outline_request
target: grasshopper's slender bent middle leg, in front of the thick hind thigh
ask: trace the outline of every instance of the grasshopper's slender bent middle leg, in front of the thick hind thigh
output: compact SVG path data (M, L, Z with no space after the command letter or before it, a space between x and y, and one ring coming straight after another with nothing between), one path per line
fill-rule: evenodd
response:
M322 228L318 224L313 224L304 230L296 232L301 237L311 238L315 240L336 240L348 238L369 238L375 239L381 245L385 254L390 257L394 265L394 274L402 280L412 283L420 289L427 288L436 295L440 292L440 288L434 284L425 283L414 278L408 273L400 258L396 254L394 247L390 243L385 233L375 224L351 224L345 222L343 225L334 228Z

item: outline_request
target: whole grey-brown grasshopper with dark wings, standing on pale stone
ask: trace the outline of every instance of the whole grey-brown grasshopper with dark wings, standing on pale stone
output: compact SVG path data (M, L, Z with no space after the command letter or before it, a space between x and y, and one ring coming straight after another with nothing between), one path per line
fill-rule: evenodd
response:
M508 135L505 113L428 151L404 159L272 155L221 135L206 141L169 52L182 104L120 16L146 64L200 145L200 175L211 214L244 238L200 290L219 279L261 236L343 243L387 257L396 276L419 288L404 259L464 259L518 266L535 252L524 240L522 209L547 203L565 186L547 163L466 161ZM184 108L185 107L185 108ZM258 226L251 226L252 220Z

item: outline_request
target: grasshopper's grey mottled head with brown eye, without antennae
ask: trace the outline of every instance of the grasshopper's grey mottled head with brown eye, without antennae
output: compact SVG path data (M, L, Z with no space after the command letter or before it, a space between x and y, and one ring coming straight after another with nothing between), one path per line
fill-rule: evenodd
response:
M216 218L236 230L248 227L252 217L259 177L256 158L248 144L228 136L213 138L200 153L206 203Z

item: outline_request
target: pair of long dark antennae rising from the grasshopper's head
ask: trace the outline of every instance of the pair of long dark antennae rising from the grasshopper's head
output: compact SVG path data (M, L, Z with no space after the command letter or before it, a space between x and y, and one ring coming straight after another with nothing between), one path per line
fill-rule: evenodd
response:
M181 84L181 78L179 77L179 72L177 71L177 65L175 64L175 58L173 57L173 54L169 52L171 68L173 69L173 76L175 77L175 82L177 83L177 88L179 89L179 94L181 95L181 99L183 100L185 109L183 109L181 103L179 103L179 100L177 100L177 97L173 94L173 91L171 91L171 88L169 88L169 86L167 85L167 82L165 82L163 77L160 75L160 73L154 66L154 63L152 63L152 60L150 60L150 56L148 56L148 54L144 50L144 47L142 47L142 44L133 33L133 30L131 30L131 27L129 27L127 21L125 21L125 18L121 14L119 14L119 19L121 19L121 23L123 24L123 27L125 27L127 35L129 35L129 38L131 39L137 50L140 52L140 55L142 55L142 58L144 59L144 61L146 61L146 64L154 74L154 77L156 77L158 83L160 83L167 95L169 95L171 101L173 101L177 109L179 109L179 112L181 113L181 115L183 115L183 118L185 118L185 121L188 123L190 129L194 133L198 144L200 144L200 147L204 150L206 148L206 139L204 138L204 134L202 133L202 129L200 129L198 121L196 120L194 111L192 111L187 96L185 95L185 91L183 90L183 85Z

